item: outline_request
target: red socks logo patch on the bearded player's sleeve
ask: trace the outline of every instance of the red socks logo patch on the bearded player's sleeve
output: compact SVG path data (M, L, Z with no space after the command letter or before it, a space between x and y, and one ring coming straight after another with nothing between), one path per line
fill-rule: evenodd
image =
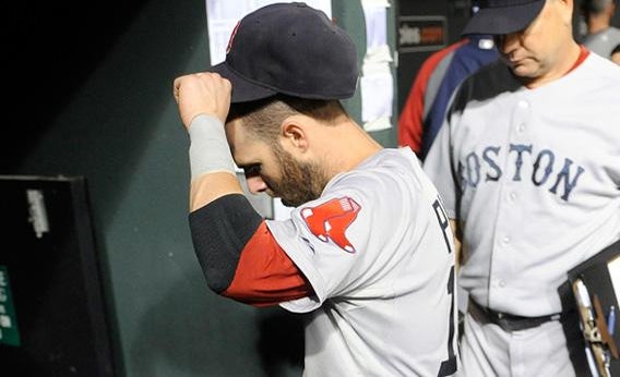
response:
M301 217L308 228L319 240L336 245L348 253L355 253L355 247L345 235L345 231L356 219L361 207L350 197L334 198L317 207L305 207Z

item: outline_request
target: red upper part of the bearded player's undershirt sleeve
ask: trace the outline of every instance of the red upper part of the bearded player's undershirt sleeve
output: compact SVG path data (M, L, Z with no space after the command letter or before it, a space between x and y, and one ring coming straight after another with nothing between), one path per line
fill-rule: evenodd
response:
M254 306L275 305L312 294L312 287L277 244L263 221L243 247L224 296Z

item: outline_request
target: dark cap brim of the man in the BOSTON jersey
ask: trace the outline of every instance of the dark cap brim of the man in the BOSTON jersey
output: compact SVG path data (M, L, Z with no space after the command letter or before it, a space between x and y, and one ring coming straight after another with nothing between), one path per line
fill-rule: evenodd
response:
M503 35L526 28L545 7L545 0L521 5L481 8L461 33Z

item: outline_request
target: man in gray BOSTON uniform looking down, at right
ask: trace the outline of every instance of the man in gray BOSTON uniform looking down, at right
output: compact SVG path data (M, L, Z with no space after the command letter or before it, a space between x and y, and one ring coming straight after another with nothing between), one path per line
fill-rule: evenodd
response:
M620 239L620 69L575 42L572 12L474 15L501 61L458 87L425 160L463 247L466 376L589 375L567 272Z

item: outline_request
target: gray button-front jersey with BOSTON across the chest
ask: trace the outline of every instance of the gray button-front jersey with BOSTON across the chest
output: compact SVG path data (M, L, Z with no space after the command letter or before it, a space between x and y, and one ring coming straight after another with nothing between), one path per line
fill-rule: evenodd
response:
M567 271L620 238L620 68L589 53L527 89L489 65L461 86L425 171L463 226L469 295L561 312Z

